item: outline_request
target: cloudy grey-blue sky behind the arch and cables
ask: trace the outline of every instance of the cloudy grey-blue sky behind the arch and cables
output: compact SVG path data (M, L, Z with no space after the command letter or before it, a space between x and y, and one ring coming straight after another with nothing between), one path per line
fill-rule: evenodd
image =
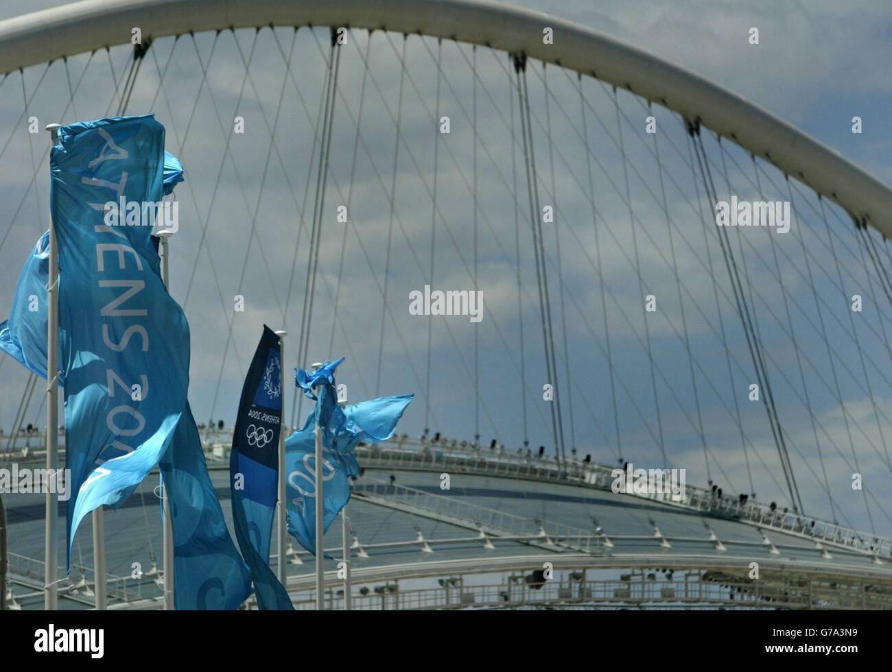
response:
M0 4L0 19L56 4L7 0ZM516 4L598 29L694 70L892 183L887 3ZM747 40L754 27L758 45ZM318 161L313 125L327 36L301 29L286 70L282 54L291 51L293 37L289 29L263 29L240 30L235 37L227 32L176 43L158 40L127 109L155 113L168 129L168 149L186 165L186 183L177 191L182 228L171 242L170 287L191 327L190 402L200 422L223 419L231 425L265 323L289 331L288 369L346 356L339 381L347 384L351 400L416 392L401 425L411 435L428 428L473 440L479 432L485 443L497 438L516 449L526 440L533 450L544 445L550 453L553 402L542 398L542 386L554 379L567 451L576 447L601 463L671 463L689 470L689 483L712 479L732 493L788 499L764 403L747 397L755 374L714 226L706 243L706 197L702 182L692 178L690 145L679 120L662 109L652 112L665 166L660 171L650 153L653 138L643 133L651 112L640 100L626 92L614 99L609 87L586 78L581 102L574 76L558 68L542 70L533 63L527 72L541 203L553 205L557 218L543 234L557 373L549 377L543 355L520 122L505 55L444 42L438 104L435 41L406 41L401 77L402 37L376 33L363 86L368 35L362 31L352 32L343 47L309 360L298 363L306 225ZM126 47L116 47L70 58L67 72L58 64L26 70L25 91L34 93L29 114L41 127L51 120L106 116L128 56ZM552 96L544 93L546 82ZM76 89L71 103L70 86ZM12 129L4 132L3 142L6 133L10 141L0 154L0 198L11 203L0 221L0 235L6 234L0 246L3 316L21 259L45 230L41 221L48 210L45 163L37 165L37 189L29 188L32 160L39 163L45 138L28 135L25 122L17 122L21 87L17 74L0 87L0 128ZM434 145L434 119L443 115L450 117L450 134L440 134ZM863 119L861 134L852 133L855 116ZM244 118L244 134L232 132L235 117ZM273 128L276 142L270 143ZM617 151L618 129L625 159ZM892 352L885 339L892 306L880 300L880 285L863 273L863 253L841 211L829 208L830 233L810 190L797 184L788 192L783 176L767 164L754 171L739 148L720 147L709 136L704 143L718 171L720 197L756 199L761 184L765 198L792 195L801 215L789 235L743 235L734 245L746 262L748 299L805 508L888 534L892 520L879 503L888 500L892 476L886 447L892 441L886 416ZM344 205L346 225L335 218ZM435 288L471 290L475 274L484 301L479 324L467 316L431 322L410 315L409 291L422 290L430 277ZM869 324L851 321L847 297L856 291L866 297ZM656 296L658 308L645 323L642 303L648 294ZM237 297L244 298L244 312L234 309ZM861 348L846 348L854 332ZM12 423L26 380L16 367L12 361L0 365L4 428ZM306 412L304 405L301 414ZM37 398L26 417L42 423ZM851 488L856 471L868 475L867 505L865 493Z

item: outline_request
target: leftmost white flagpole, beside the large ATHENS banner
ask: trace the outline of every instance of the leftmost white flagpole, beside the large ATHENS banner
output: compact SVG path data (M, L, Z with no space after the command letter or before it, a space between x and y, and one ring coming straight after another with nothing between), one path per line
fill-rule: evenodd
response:
M61 124L49 124L51 143L59 139ZM49 275L46 280L46 478L56 479L59 469L59 248L56 245L55 226L50 214ZM57 496L51 492L57 488L46 488L45 499L45 552L44 552L44 609L58 609L56 591L56 571L59 567L59 554L56 533L59 526L59 504ZM6 589L6 586L3 586Z

